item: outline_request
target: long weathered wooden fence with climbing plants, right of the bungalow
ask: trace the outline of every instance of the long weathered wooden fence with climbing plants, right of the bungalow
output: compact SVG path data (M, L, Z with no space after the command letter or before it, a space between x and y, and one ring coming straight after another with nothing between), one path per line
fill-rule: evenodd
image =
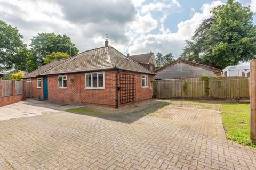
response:
M250 98L248 77L202 77L157 80L157 98Z

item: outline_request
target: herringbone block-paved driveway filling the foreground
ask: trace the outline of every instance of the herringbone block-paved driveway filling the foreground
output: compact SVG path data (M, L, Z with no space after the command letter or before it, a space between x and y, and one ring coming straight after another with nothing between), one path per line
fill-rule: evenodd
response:
M0 121L0 169L256 169L256 150L227 140L216 111L165 106L114 116Z

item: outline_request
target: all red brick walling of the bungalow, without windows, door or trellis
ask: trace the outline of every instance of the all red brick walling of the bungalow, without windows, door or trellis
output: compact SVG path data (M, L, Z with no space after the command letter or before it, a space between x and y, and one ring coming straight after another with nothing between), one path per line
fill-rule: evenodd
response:
M49 101L60 101L65 103L86 103L115 107L116 105L116 73L117 71L105 71L105 89L85 89L85 73L66 74L67 88L58 88L58 75L48 76L48 98ZM151 99L152 90L149 76L148 88L141 87L141 74L136 75L136 101ZM74 78L73 83L70 78ZM32 95L43 96L43 78L41 89L36 88L36 78L32 79Z

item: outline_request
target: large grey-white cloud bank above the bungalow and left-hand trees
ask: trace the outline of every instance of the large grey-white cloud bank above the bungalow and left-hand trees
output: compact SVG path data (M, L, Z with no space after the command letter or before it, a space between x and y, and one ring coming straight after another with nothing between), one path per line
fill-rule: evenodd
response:
M126 27L136 15L130 0L0 0L1 20L17 27L26 44L37 33L66 33L81 51L103 46L106 33L110 44L125 50L130 43Z

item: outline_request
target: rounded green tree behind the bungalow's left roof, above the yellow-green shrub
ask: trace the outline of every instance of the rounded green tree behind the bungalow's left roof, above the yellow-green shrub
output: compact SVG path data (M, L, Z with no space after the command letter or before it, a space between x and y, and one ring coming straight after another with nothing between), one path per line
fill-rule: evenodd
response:
M46 55L52 52L70 54L70 48L72 56L77 55L79 52L75 44L71 42L70 37L67 35L55 35L55 33L39 33L31 39L30 46L34 60L39 66L44 64Z

